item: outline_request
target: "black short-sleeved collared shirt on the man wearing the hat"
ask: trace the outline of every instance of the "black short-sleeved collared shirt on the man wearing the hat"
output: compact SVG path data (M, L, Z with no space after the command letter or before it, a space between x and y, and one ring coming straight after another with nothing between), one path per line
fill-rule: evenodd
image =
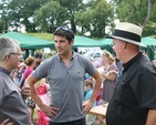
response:
M142 53L123 64L106 113L107 125L145 125L156 108L156 69Z

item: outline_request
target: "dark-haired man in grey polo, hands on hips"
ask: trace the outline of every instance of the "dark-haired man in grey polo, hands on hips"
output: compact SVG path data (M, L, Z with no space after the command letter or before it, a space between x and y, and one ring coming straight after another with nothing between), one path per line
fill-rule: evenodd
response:
M39 107L49 115L50 125L85 125L85 114L92 108L100 91L102 77L92 62L72 51L74 33L67 27L54 32L58 54L45 60L28 77L31 96ZM95 79L90 101L83 103L85 73ZM46 77L51 87L51 106L37 95L34 83Z

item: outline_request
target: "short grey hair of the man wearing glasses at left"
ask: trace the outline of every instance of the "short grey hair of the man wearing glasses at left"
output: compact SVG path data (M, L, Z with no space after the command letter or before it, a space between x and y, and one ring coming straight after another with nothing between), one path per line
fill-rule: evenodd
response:
M0 38L0 61L3 61L4 56L9 53L17 53L18 45L19 43L15 40Z

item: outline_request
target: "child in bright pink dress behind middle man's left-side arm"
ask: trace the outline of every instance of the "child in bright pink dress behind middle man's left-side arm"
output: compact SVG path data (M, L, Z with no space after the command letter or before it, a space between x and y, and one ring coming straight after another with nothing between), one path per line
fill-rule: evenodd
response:
M45 79L41 79L35 83L35 90L42 102L50 105L50 96L48 92L50 91L49 84L46 84ZM49 125L49 116L45 115L37 105L38 111L38 125Z

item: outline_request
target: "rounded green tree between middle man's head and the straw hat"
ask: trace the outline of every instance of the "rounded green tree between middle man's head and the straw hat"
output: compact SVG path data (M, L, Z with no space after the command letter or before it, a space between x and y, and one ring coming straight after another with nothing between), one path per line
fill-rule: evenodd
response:
M92 3L93 8L86 11L77 12L75 19L82 33L90 32L92 38L104 38L105 28L112 22L113 8L105 0L96 3Z

